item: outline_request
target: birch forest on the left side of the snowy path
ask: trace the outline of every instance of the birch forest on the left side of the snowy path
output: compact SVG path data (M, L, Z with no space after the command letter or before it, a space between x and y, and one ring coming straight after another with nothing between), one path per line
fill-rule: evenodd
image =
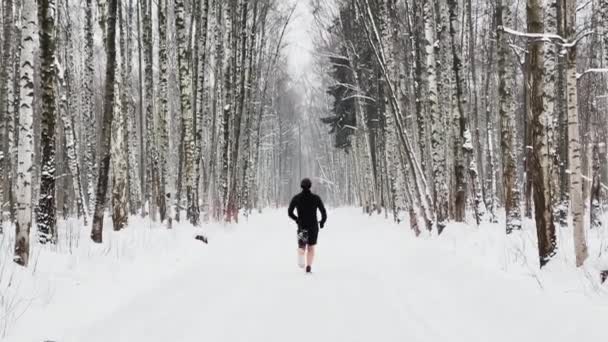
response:
M28 264L30 232L55 243L68 217L102 242L108 213L118 231L131 215L171 228L278 205L268 184L295 168L283 160L295 135L280 134L296 121L284 53L293 6L6 0L0 10L0 218L14 223L15 262Z

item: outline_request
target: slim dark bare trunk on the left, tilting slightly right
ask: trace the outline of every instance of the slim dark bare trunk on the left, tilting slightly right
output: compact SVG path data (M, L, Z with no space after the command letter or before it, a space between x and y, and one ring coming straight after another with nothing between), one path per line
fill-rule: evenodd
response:
M115 82L116 82L116 12L118 0L110 0L108 7L107 42L106 42L106 84L103 105L103 126L101 127L101 148L99 150L100 168L97 181L97 200L95 201L95 215L91 239L101 243L103 234L103 213L106 206L108 190L108 176L110 169L110 145L112 136L112 121L115 110Z

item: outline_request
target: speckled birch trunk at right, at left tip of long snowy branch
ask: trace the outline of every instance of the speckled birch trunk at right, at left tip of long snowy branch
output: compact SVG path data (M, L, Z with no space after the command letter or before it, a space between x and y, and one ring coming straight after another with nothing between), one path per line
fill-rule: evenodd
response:
M515 68L509 39L502 27L513 27L509 0L499 0L496 6L498 30L498 112L500 116L500 146L502 153L502 190L504 193L506 232L521 230L521 209L517 162L515 160ZM486 104L487 105L487 104Z

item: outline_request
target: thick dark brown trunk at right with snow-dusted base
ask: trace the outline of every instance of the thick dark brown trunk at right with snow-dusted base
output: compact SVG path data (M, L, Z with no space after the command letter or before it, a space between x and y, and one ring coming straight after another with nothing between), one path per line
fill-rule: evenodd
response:
M528 0L528 32L543 33L542 0ZM534 212L538 252L541 267L547 264L557 252L555 225L551 200L551 173L547 129L548 118L544 109L543 42L528 43L530 75L529 117L532 131L532 153L530 170L532 172Z

